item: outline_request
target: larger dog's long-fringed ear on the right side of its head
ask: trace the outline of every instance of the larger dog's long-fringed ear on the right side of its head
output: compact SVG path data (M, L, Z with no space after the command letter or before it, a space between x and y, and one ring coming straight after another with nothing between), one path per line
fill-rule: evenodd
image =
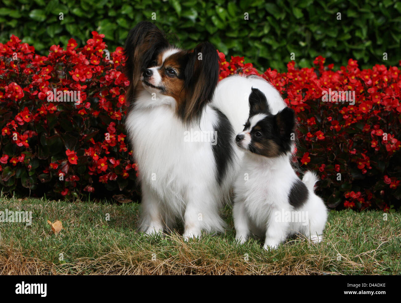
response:
M178 113L188 122L200 117L202 109L212 100L219 80L219 55L211 43L201 43L188 52L184 78L186 102L179 105Z

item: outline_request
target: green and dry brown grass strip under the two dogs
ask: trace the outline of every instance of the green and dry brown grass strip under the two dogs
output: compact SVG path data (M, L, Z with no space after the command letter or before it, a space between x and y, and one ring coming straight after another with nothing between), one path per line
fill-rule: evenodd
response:
M399 275L400 213L330 212L325 240L295 239L265 251L251 239L234 241L229 228L184 242L178 232L144 236L136 232L139 204L67 203L0 198L0 211L32 211L33 223L0 223L1 275ZM105 220L109 214L110 220ZM47 220L61 220L55 235ZM61 258L60 256L63 256Z

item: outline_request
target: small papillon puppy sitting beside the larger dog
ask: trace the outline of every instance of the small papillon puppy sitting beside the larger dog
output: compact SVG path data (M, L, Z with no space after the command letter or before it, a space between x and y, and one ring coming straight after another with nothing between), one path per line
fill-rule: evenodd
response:
M245 150L234 191L236 240L251 233L265 237L264 248L277 248L286 238L304 235L322 240L327 209L314 193L317 177L308 171L302 181L291 165L295 146L294 110L273 112L265 94L252 88L249 118L236 142Z

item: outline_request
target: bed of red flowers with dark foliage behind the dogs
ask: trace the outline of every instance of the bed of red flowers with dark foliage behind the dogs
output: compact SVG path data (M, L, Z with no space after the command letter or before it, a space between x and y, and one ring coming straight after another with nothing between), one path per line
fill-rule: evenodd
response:
M138 171L124 129L129 82L123 49L109 53L104 36L92 34L82 48L74 39L66 49L53 45L47 57L15 36L0 44L3 193L135 198ZM242 57L228 62L219 56L220 79L259 74ZM399 69L360 70L352 59L339 71L325 67L322 57L314 63L316 68L298 69L292 61L286 73L263 73L297 113L294 161L318 171L318 193L330 207L399 206ZM329 89L332 96L354 91L355 104L324 102L322 92Z

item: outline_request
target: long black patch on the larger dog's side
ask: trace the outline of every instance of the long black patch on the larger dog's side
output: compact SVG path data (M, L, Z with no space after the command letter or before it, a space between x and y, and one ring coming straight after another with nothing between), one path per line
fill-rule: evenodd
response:
M212 145L213 155L217 165L217 182L219 185L223 182L227 169L234 160L234 130L230 121L217 108L213 108L219 117L214 130L217 131L217 144Z

